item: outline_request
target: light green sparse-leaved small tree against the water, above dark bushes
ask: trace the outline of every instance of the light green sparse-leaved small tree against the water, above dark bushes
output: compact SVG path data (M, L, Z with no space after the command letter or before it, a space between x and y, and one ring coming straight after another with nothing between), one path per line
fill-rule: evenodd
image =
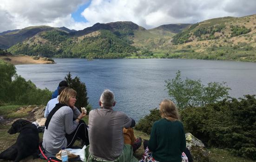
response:
M205 106L225 98L229 94L229 87L224 86L225 82L210 82L205 87L200 80L186 78L181 79L181 72L176 73L172 80L165 81L169 96L180 109L189 106Z

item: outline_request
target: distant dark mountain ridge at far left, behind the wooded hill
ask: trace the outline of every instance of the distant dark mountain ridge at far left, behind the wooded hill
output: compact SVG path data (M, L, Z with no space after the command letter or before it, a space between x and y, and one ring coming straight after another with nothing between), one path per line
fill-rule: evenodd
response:
M60 30L51 26L31 26L18 31L8 32L0 35L0 48L7 49L14 44L25 41L29 37L33 37L42 31ZM62 30L60 30L62 31Z

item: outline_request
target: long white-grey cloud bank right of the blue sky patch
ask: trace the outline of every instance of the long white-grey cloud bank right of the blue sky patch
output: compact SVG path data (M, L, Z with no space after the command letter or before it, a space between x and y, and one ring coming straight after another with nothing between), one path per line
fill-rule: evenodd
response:
M256 0L92 0L82 12L90 24L132 21L145 28L256 13Z

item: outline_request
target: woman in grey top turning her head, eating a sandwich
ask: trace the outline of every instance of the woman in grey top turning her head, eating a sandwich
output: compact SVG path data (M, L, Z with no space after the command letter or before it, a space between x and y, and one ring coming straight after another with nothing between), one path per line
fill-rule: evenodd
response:
M59 103L47 116L43 147L48 153L55 155L62 148L72 147L78 137L89 144L87 125L81 120L86 113L75 106L76 94L72 88L62 90Z

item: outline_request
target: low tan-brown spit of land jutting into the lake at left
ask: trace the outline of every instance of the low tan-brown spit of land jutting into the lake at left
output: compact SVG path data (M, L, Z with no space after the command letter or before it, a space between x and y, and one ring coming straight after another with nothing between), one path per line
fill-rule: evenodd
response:
M17 56L0 56L1 60L5 62L12 63L13 65L20 64L53 64L55 62L47 61L44 57L40 57L39 59L33 59L32 56L27 55L17 55Z

